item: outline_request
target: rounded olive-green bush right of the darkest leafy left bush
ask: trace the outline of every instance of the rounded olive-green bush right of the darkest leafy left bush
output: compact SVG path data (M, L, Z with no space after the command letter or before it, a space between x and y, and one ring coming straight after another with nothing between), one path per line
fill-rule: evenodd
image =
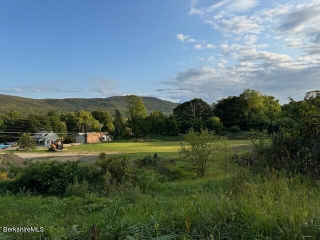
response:
M101 153L95 165L102 168L104 173L109 173L111 181L116 183L124 182L125 178L130 178L132 173L130 158L127 156L107 157L105 153Z

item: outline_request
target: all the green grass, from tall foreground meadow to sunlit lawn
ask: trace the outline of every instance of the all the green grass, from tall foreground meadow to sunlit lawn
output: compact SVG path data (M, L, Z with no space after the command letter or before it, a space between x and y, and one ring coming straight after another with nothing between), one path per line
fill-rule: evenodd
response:
M81 145L70 152L119 152L131 158L155 152L176 159L178 180L152 182L110 191L108 196L41 197L29 192L0 196L0 225L44 227L44 234L24 239L91 239L96 225L100 240L291 240L320 236L319 182L281 173L251 175L233 166L225 173L221 152L215 153L203 179L178 158L179 142L113 142ZM229 155L247 151L249 141L229 140ZM73 229L73 230L71 230ZM0 233L22 239L21 234Z

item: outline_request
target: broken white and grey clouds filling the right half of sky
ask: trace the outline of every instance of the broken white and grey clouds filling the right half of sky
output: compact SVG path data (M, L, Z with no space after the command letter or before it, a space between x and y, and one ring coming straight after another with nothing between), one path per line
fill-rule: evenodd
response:
M224 40L215 50L218 52L197 58L213 65L178 71L170 81L163 82L171 87L160 94L180 100L196 96L205 99L210 89L217 100L252 88L285 102L288 96L301 98L304 92L318 89L320 0L302 4L290 1L247 11L257 3L220 0L198 7L200 2L191 1L189 13L212 25ZM209 48L207 44L199 42L198 49Z

